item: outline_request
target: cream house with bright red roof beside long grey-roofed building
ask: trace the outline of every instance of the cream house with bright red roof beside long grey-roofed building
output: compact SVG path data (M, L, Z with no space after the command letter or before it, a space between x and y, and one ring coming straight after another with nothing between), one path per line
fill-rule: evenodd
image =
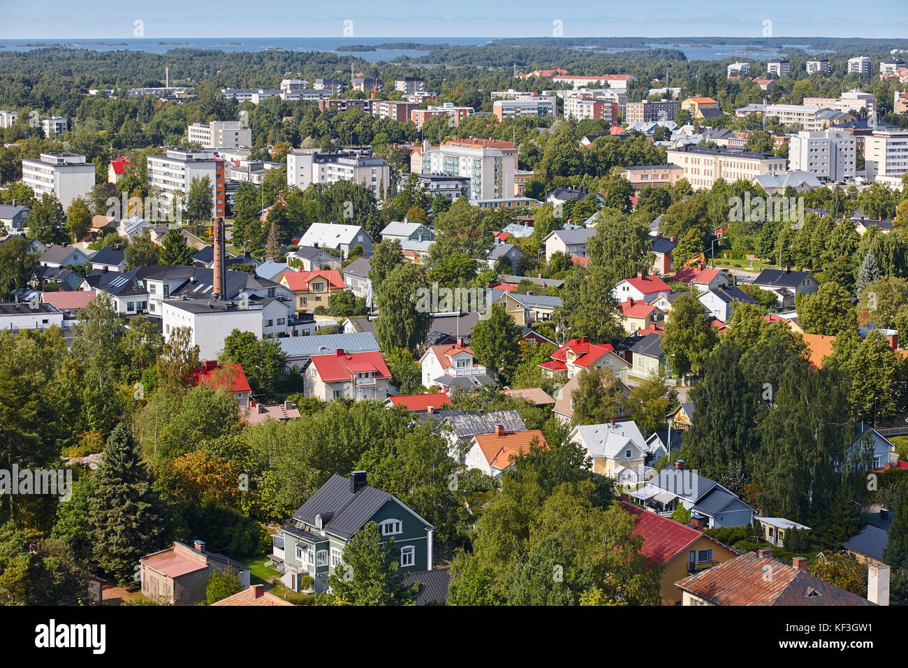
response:
M303 394L321 401L346 397L354 401L388 398L391 373L380 352L312 355L303 370Z

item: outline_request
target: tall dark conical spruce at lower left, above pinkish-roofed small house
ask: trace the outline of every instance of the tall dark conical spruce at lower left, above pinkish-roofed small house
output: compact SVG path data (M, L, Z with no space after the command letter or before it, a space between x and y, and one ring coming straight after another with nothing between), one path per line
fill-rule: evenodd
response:
M94 489L89 505L94 561L127 586L139 559L160 546L163 517L139 446L123 423L107 439Z

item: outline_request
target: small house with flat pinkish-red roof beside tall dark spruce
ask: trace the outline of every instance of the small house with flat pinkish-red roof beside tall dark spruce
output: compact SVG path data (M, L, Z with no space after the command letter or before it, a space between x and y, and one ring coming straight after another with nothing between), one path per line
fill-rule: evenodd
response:
M243 587L249 586L249 568L223 554L205 550L203 541L192 546L173 541L173 547L139 560L142 593L150 599L173 605L193 605L205 600L212 573L238 573Z

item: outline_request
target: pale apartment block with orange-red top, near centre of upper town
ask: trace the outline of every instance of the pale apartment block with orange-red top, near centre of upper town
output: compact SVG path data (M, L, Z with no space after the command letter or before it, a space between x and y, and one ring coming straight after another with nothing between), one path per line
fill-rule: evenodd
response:
M424 142L410 156L410 171L468 176L469 199L501 199L514 193L517 153L511 142L498 139L452 139L440 146Z

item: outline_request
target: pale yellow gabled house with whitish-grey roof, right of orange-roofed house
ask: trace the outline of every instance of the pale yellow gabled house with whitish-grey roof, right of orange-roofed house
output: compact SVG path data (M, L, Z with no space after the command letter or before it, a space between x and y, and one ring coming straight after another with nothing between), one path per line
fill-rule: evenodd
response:
M592 457L594 474L612 480L617 480L621 469L653 464L646 440L633 421L578 424L568 434L571 442L581 445Z

